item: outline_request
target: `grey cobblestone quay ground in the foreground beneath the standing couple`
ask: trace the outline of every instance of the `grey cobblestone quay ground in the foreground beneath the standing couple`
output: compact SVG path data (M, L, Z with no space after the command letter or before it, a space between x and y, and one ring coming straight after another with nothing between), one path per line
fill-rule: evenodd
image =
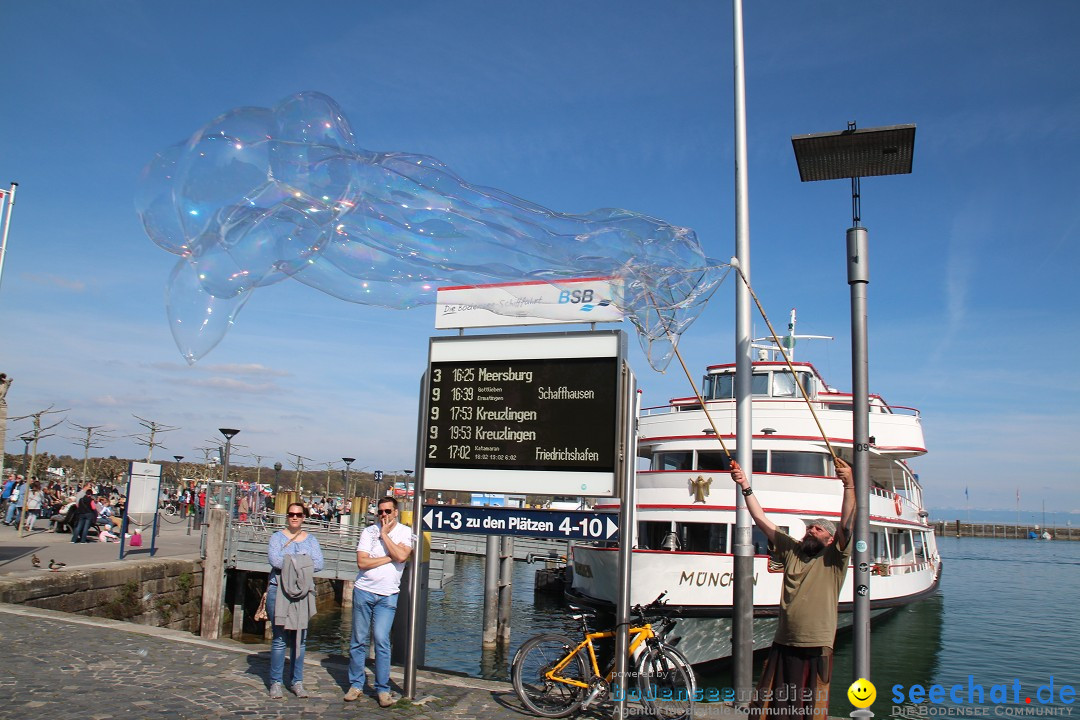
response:
M372 697L346 704L348 668L314 653L305 664L311 697L286 691L285 699L271 701L265 648L230 649L173 630L127 626L136 631L123 623L85 624L86 619L12 608L0 609L0 718L531 717L505 683L435 674L421 674L417 704L403 699L382 709Z

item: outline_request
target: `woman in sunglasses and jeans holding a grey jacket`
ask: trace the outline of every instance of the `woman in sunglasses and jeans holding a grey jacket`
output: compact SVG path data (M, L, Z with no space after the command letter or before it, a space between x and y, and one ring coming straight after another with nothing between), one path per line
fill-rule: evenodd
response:
M314 614L313 573L323 569L323 548L314 535L303 530L308 508L289 503L285 510L285 529L270 535L267 555L270 582L267 587L267 615L273 629L270 642L270 697L280 699L285 676L285 646L289 648L292 680L289 689L297 697L308 697L303 689L303 651L308 640L308 620ZM307 573L307 574L306 574ZM310 587L308 580L311 580Z

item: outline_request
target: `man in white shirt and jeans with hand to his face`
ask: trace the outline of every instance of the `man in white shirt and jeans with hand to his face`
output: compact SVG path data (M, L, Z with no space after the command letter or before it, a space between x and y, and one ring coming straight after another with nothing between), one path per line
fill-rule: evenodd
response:
M397 522L397 501L383 498L375 525L356 544L356 582L352 588L352 642L349 646L349 692L345 702L364 691L367 639L375 636L375 692L381 707L393 705L390 696L390 627L397 611L405 562L413 553L413 531Z

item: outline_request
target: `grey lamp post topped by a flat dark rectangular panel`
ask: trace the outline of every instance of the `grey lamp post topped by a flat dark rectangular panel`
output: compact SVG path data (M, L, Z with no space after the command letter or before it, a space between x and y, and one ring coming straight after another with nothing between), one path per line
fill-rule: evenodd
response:
M799 178L813 180L851 179L851 225L847 232L848 286L851 293L851 400L852 470L855 477L854 638L855 679L870 677L870 549L869 549L869 359L867 351L866 286L869 285L869 235L860 223L862 189L860 178L903 175L912 172L915 157L915 125L892 125L797 135L792 138Z

